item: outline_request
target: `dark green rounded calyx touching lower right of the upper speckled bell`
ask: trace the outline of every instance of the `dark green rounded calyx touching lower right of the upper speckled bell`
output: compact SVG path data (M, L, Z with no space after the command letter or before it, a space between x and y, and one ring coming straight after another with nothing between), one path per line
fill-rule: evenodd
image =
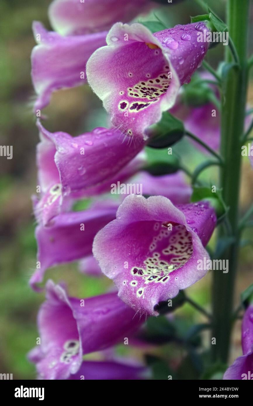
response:
M148 129L151 137L148 146L165 148L178 142L184 135L184 124L169 112L163 112L161 120Z

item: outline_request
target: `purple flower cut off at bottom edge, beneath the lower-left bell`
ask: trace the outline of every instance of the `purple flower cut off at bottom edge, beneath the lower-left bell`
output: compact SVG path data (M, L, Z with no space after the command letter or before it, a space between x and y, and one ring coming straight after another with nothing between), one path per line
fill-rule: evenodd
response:
M68 379L85 380L139 380L145 379L147 369L142 366L115 361L83 361L79 371Z

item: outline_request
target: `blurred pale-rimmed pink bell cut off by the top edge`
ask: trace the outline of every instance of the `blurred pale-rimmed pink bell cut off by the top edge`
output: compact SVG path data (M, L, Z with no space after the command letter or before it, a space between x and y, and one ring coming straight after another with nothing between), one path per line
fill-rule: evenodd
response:
M129 22L155 5L148 0L54 0L49 19L61 35L80 35L107 30L117 21Z

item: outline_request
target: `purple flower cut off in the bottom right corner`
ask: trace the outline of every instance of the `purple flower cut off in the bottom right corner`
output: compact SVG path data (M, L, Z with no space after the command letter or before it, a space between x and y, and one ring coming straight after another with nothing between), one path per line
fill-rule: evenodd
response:
M253 304L244 313L242 320L242 356L225 372L225 380L253 380Z

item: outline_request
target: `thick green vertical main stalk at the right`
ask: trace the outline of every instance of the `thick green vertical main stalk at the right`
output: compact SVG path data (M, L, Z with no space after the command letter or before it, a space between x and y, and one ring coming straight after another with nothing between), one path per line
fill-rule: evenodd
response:
M228 219L235 242L226 249L221 259L228 259L229 271L214 270L213 283L213 358L226 362L229 356L232 327L234 285L238 262L240 233L238 231L238 200L241 169L241 137L244 129L244 112L247 94L247 36L249 0L228 0L227 25L229 37L234 41L239 65L229 70L223 83L221 109L221 187L223 199L229 207ZM226 62L232 62L227 47ZM226 236L225 228L220 227L219 237Z

